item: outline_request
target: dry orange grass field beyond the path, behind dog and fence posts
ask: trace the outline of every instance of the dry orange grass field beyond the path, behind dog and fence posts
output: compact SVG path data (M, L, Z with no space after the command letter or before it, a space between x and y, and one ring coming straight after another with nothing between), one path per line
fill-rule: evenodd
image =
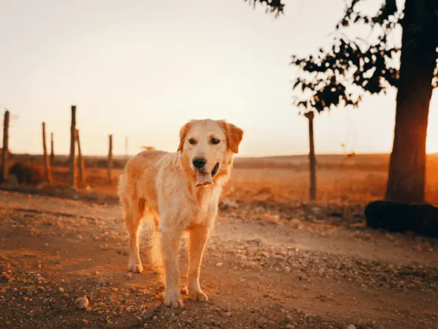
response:
M18 160L15 158L14 160ZM29 160L27 158L27 160ZM31 159L38 164L39 157ZM118 175L124 162L118 161L113 170L113 184L107 182L105 162L99 158L86 159L86 181L79 184L84 191L116 196ZM68 184L68 167L58 160L53 167L55 186ZM387 180L388 156L343 155L318 156L317 196L320 203L364 204L382 198ZM272 204L299 204L309 197L309 172L306 156L269 158L237 158L224 198L241 202L269 202ZM438 204L438 155L428 156L426 198Z

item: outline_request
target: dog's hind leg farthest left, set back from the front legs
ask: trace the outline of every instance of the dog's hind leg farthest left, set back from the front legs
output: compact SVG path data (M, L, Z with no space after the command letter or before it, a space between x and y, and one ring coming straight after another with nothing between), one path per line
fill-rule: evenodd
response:
M132 204L128 209L125 208L125 224L129 234L128 270L136 273L142 273L143 271L142 260L140 260L138 231L144 216L144 204L144 199L139 199L137 204Z

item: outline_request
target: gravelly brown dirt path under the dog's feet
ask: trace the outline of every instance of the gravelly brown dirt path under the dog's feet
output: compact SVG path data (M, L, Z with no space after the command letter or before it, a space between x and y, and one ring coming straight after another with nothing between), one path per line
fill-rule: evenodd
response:
M438 328L437 241L244 214L222 210L209 241L209 302L174 310L157 297L147 227L145 271L128 275L118 206L2 192L0 328Z

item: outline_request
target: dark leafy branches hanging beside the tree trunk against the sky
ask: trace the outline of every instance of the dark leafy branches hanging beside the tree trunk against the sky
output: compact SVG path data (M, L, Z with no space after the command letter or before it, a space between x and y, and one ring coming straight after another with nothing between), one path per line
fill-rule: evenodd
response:
M368 16L357 10L365 1L350 1L335 29L368 24L377 31L378 26L381 34L376 42L338 34L331 47L320 48L317 56L292 56L290 64L300 69L292 88L298 108L322 112L337 106L357 107L365 93L386 93L387 88L398 86L398 68L392 65L400 56L400 48L389 45L387 36L399 25L403 13L396 0L386 0L374 16ZM433 83L438 85L438 69Z

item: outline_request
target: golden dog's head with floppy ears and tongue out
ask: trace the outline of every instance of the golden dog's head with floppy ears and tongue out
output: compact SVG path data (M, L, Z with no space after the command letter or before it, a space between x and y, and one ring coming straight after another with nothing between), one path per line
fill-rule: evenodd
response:
M196 174L196 186L229 175L242 137L239 127L223 120L192 120L181 127L178 151L183 166Z

